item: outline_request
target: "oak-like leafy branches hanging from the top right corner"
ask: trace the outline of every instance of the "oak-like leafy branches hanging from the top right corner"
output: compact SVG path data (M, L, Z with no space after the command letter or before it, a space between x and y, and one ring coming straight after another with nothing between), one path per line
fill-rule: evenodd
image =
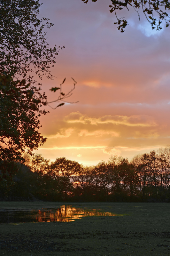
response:
M81 0L84 3L88 3L89 0ZM97 0L91 0L92 2L97 2ZM119 18L117 13L126 8L128 11L130 8L134 8L134 10L138 14L138 18L140 20L139 11L142 9L143 14L145 15L148 22L151 24L152 29L160 30L162 29L162 21L165 21L166 27L169 27L170 16L168 14L168 10L170 10L170 2L168 0L156 1L156 0L110 0L111 5L110 12L114 13L117 19L117 22L114 24L118 25L118 29L120 32L124 32L128 22L124 18Z

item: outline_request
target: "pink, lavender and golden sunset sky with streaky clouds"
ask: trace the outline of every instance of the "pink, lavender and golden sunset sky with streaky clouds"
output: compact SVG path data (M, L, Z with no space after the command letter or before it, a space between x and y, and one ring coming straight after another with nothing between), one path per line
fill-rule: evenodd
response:
M170 28L152 30L142 13L139 21L129 9L118 13L129 24L120 33L110 0L40 2L39 16L54 24L46 34L49 46L65 46L51 69L54 80L43 77L42 90L55 100L49 89L66 77L68 92L73 77L68 101L79 102L46 107L40 132L47 141L35 153L95 165L170 144Z

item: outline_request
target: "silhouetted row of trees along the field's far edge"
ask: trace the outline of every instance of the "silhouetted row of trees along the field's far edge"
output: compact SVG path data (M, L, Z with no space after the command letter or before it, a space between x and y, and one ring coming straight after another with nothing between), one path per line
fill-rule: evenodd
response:
M41 154L23 159L0 172L1 200L170 201L170 145L131 161L111 156L95 166L65 157L50 163Z

